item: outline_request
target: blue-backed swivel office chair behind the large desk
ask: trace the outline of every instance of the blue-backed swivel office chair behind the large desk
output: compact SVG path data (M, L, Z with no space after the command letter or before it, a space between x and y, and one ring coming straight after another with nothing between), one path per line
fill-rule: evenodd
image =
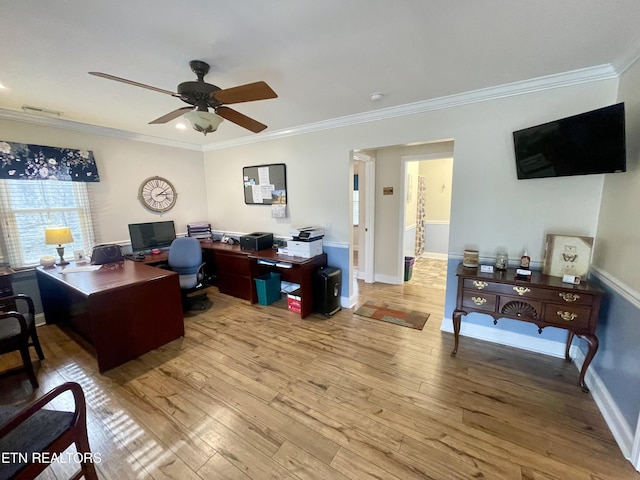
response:
M182 308L184 310L204 310L210 305L207 293L195 294L206 288L204 279L204 262L200 241L194 237L176 238L169 247L167 260L169 269L179 275L182 291Z

